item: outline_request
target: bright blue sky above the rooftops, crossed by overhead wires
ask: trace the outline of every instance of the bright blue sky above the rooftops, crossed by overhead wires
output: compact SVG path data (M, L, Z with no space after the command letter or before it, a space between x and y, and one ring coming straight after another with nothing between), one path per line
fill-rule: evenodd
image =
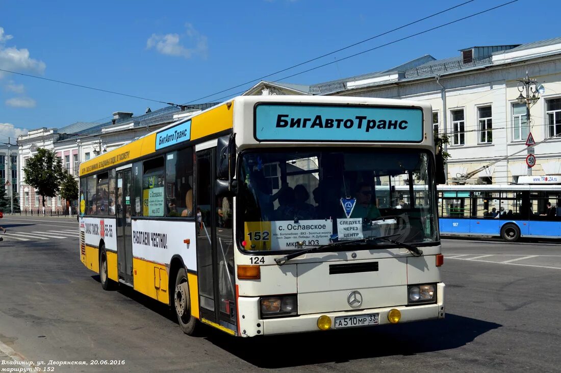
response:
M466 0L242 2L0 2L0 68L186 103L364 40ZM266 80L334 61L502 4L475 0ZM561 2L519 0L424 35L285 81L301 84L384 70L473 45L521 44L561 36ZM525 19L526 16L530 19ZM529 24L527 23L529 22ZM236 93L252 84L230 91ZM228 93L197 102L212 102ZM220 99L219 101L222 101ZM62 127L135 115L163 104L0 72L0 142L18 127ZM13 126L13 127L12 127ZM12 141L13 142L13 141Z

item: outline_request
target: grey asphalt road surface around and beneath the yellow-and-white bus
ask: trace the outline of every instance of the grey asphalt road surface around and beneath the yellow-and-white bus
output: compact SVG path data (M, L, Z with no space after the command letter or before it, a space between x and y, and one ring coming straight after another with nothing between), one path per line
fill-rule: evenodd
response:
M444 320L247 340L208 328L187 337L160 303L132 291L103 291L80 263L75 219L16 217L0 224L8 229L0 233L0 371L10 360L6 351L35 363L125 361L56 372L561 366L561 244L445 239Z

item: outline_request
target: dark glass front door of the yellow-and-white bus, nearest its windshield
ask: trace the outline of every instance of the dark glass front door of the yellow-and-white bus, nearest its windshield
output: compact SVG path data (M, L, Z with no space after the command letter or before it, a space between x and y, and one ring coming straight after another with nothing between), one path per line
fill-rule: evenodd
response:
M232 197L214 192L216 148L196 153L197 274L201 321L237 331ZM198 213L198 211L197 211Z

